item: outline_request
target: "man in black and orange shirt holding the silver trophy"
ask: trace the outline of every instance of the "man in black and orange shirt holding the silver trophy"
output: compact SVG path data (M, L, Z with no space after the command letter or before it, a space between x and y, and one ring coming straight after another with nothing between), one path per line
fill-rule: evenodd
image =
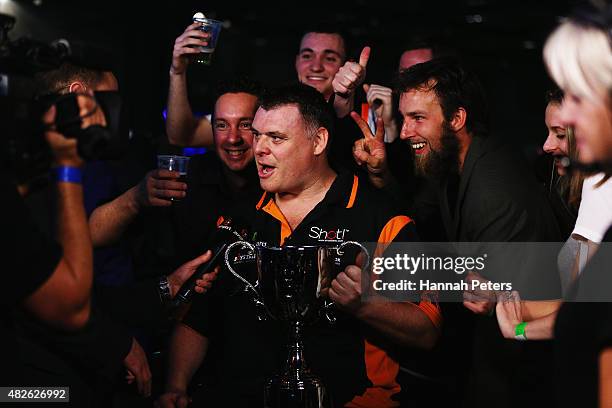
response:
M330 167L334 113L315 89L284 86L261 102L252 128L265 193L236 210L251 220L256 246L247 246L257 268L228 265L237 276L223 271L194 300L172 338L159 403L186 406L188 385L206 357L204 378L211 381L191 392L194 406L399 406L399 364L390 353L433 347L440 311L428 301L363 301L364 257L346 245L414 241L414 224L367 182ZM291 323L287 345L283 323ZM283 362L284 374L272 377Z

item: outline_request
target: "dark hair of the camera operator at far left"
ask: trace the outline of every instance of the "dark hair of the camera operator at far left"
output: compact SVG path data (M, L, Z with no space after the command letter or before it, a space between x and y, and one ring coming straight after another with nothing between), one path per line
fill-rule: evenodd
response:
M37 94L39 96L68 93L68 86L74 81L81 81L88 87L95 87L104 81L105 71L84 68L65 62L51 71L36 75Z

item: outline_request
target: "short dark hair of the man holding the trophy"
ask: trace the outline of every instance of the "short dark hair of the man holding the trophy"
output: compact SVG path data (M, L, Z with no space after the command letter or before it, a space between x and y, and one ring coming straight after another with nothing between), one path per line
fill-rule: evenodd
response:
M323 94L315 88L299 82L270 88L261 98L261 108L272 110L280 106L296 105L306 127L314 130L324 127L332 134L334 126L333 108Z

